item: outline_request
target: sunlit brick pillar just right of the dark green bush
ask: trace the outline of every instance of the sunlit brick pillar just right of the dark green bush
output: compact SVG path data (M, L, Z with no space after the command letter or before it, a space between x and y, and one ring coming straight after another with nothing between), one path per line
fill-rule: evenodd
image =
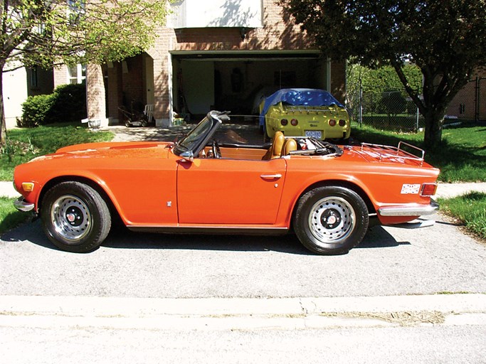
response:
M86 105L88 119L106 119L105 82L101 65L86 66Z

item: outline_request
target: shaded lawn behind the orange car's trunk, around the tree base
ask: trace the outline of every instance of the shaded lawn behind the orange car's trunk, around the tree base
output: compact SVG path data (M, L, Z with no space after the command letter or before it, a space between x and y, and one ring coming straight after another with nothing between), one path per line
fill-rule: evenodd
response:
M406 141L423 148L423 132L387 132L353 125L352 138L367 143L398 145ZM441 182L486 182L486 126L462 124L443 129L443 146L426 150L426 161L440 168Z

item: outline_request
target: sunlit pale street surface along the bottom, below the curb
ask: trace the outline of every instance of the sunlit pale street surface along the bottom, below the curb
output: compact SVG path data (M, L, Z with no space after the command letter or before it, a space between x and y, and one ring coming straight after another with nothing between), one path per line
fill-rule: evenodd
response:
M133 331L79 327L12 331L0 328L0 336L5 337L0 353L9 364L482 364L485 363L485 335L485 326L308 331Z

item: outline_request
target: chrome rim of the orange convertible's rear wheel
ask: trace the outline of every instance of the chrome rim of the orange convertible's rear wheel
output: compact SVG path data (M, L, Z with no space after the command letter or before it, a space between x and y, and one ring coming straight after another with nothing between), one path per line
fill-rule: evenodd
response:
M312 205L309 228L312 235L325 244L339 244L354 230L356 214L344 198L330 196Z

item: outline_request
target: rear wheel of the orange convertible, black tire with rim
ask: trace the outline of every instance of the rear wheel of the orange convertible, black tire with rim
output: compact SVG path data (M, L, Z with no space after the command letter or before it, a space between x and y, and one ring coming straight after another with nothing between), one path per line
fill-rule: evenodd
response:
M324 186L300 198L294 230L308 250L339 255L363 240L368 223L368 208L356 192L341 186Z

